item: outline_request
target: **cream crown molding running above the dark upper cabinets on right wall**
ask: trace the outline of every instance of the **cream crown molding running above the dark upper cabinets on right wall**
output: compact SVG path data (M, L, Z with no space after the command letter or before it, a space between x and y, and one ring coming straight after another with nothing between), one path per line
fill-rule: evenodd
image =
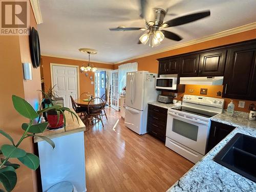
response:
M206 36L206 37L202 37L202 38L190 40L190 41L187 41L187 42L183 42L182 44L178 44L178 45L175 45L175 46L166 47L166 48L163 48L163 49L151 52L151 53L139 55L139 56L136 56L136 57L131 57L129 59L124 59L122 61L114 62L114 64L119 64L119 63L130 61L130 60L133 60L133 59L138 59L138 58L141 58L141 57L146 57L146 56L150 56L150 55L154 55L154 54L157 54L157 53L162 53L162 52L165 52L165 51L170 51L170 50L174 50L174 49L178 49L178 48L182 48L182 47L186 47L186 46L190 46L190 45L195 45L195 44L198 44L200 42L204 42L204 41L208 41L208 40L213 40L213 39L217 39L217 38L221 38L221 37L241 33L241 32L249 31L249 30L252 30L252 29L256 29L256 22L248 24L248 25L240 26L240 27L237 27L237 28L229 29L229 30L226 30L226 31L222 31L222 32L219 32L219 33L216 33L216 34Z

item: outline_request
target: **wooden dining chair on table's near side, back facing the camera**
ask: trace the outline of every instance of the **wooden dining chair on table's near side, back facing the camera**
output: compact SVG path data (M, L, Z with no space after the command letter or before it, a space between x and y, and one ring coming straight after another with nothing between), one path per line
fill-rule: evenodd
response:
M104 101L99 97L95 97L89 101L88 118L87 118L89 120L89 125L91 125L91 122L93 120L95 120L95 123L96 123L96 120L98 120L98 122L101 121L102 126L104 127L103 121L101 119L103 104L104 104Z

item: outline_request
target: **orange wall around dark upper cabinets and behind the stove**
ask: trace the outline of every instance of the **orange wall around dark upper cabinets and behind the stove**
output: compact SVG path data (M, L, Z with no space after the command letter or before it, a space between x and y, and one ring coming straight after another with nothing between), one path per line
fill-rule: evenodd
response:
M219 46L228 45L228 44L245 41L245 40L250 40L250 39L255 39L255 38L256 38L256 29L253 29L253 30L245 31L245 32L238 33L238 34L233 34L233 35L229 35L229 36L225 36L225 37L221 37L221 38L217 38L217 39L213 39L213 40L208 40L205 42L200 42L195 45L186 46L186 47L182 47L182 48L165 51L162 53L158 53L158 54L145 56L145 57L125 61L122 63L118 63L118 64L115 64L114 69L118 69L118 66L123 63L138 62L138 70L139 71L149 71L152 73L158 73L158 61L156 60L157 58L174 56L174 55L179 55L179 54L183 54L183 53L189 53L189 52L199 51L199 50L204 50L204 49L210 49L210 48L214 48L214 47L219 47ZM188 92L188 89L193 88L193 89L195 89L195 92L191 95L200 95L200 89L199 89L200 87L201 86L187 85L185 88L185 94L191 94ZM207 86L203 86L202 88L207 88ZM222 92L222 86L219 86L219 87L218 86L217 87L215 87L215 86L209 87L208 86L208 95L207 96L217 97L216 96L216 93L218 92L217 90ZM179 97L182 95L183 94L179 94ZM178 99L180 99L180 98L178 98ZM224 109L226 109L227 104L229 102L230 102L230 99L226 98ZM235 110L245 111L245 112L249 111L248 106L250 103L256 104L256 102L253 102L253 101L246 101L245 108L238 108L239 100L233 99L233 102L236 105Z

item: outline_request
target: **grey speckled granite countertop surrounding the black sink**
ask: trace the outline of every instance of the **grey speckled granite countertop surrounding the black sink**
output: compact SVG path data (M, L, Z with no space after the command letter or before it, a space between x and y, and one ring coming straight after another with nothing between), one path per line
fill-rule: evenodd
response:
M236 133L256 137L256 121L247 113L236 112L232 117L224 114L211 119L236 126L219 144L181 177L167 191L256 191L256 183L216 163L213 158Z

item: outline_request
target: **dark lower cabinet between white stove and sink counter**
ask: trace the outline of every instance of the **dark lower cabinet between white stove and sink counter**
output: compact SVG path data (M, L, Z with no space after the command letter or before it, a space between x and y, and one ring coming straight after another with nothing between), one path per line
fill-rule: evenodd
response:
M206 153L214 148L222 139L224 139L235 127L216 121L211 121L210 134Z

